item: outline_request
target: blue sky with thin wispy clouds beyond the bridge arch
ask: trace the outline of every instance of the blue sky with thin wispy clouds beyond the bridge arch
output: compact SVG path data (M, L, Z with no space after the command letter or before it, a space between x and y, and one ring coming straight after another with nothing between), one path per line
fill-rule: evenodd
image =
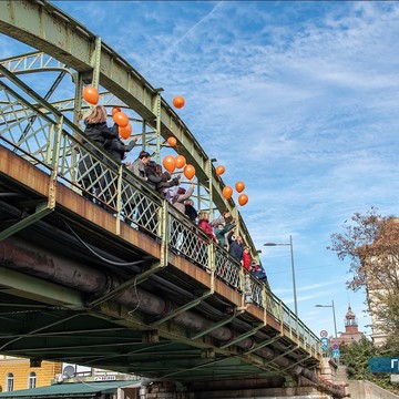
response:
M396 214L399 176L399 3L369 1L53 1L164 88L241 208L274 293L291 308L293 236L299 317L334 332L364 293L326 249L345 219ZM0 40L3 50L4 38ZM133 151L134 158L136 153Z

